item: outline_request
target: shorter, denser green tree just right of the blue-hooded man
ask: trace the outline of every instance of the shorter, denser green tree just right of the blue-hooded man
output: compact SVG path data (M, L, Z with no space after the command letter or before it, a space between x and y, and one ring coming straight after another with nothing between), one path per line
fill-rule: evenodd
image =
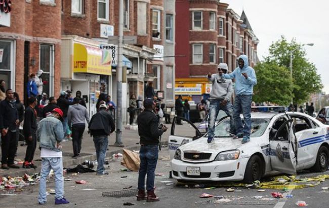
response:
M263 62L255 66L255 71L258 83L254 87L253 100L289 105L292 95L289 70L274 62Z

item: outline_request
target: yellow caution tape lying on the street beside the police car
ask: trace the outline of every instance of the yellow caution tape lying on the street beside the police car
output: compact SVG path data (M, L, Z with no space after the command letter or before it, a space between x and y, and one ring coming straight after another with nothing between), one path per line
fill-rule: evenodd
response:
M260 182L255 181L253 184L234 183L234 182L213 182L212 187L254 187L267 189L302 189L319 185L325 179L329 179L329 175L319 175L313 178L296 179L296 176L276 176L273 181ZM311 183L310 183L311 182ZM194 183L195 184L195 183ZM193 183L179 182L178 185L193 185Z

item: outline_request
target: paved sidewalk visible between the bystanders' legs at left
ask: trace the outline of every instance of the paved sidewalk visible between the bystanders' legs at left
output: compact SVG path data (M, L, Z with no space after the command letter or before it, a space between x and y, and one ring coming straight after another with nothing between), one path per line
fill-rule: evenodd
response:
M168 144L168 136L170 135L170 129L171 129L171 124L167 124L169 129L167 132L165 132L162 135L162 144ZM187 124L184 124L184 126L187 127ZM129 150L139 150L139 136L138 136L138 130L127 130L122 126L122 143L124 144L125 149ZM106 156L110 157L112 154L116 153L122 153L122 147L114 147L112 146L115 142L115 132L113 132L109 136L109 147L106 152ZM17 157L15 159L20 159L24 161L25 158L25 151L26 151L26 146L20 146L22 142L19 142L18 145L18 150L17 150ZM66 141L61 143L63 147L63 167L73 167L77 164L83 163L85 160L96 160L96 152L95 152L95 147L94 147L94 142L93 138L90 136L90 134L87 133L87 130L84 133L83 141L82 141L82 148L81 148L81 153L80 157L77 159L73 159L73 148L72 148L72 142L71 141ZM41 160L40 160L40 150L38 149L39 144L37 143L37 149L35 150L35 155L34 155L34 164L37 166L37 168L34 170L33 168L25 169L22 168L22 164L18 164L20 166L19 169L13 169L10 168L9 170L3 170L0 169L0 177L22 177L25 173L32 175L35 172L40 171L41 167Z

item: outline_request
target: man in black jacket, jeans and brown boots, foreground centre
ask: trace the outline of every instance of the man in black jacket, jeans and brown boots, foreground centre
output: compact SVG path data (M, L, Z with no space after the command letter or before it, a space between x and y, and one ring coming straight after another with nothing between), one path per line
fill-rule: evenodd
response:
M159 198L154 194L155 167L159 151L159 136L167 130L166 126L159 128L159 120L153 112L155 103L152 99L144 100L145 110L138 116L138 134L140 136L140 151L138 176L138 195L137 200L146 199L147 202L158 201ZM147 174L146 189L147 198L145 197L145 176Z

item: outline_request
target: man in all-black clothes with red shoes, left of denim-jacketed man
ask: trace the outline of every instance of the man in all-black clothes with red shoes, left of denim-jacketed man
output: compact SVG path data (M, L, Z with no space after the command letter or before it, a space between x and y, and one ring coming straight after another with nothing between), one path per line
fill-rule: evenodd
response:
M27 144L23 168L36 168L32 160L36 148L36 110L37 100L35 97L28 99L28 107L25 109L23 132Z

